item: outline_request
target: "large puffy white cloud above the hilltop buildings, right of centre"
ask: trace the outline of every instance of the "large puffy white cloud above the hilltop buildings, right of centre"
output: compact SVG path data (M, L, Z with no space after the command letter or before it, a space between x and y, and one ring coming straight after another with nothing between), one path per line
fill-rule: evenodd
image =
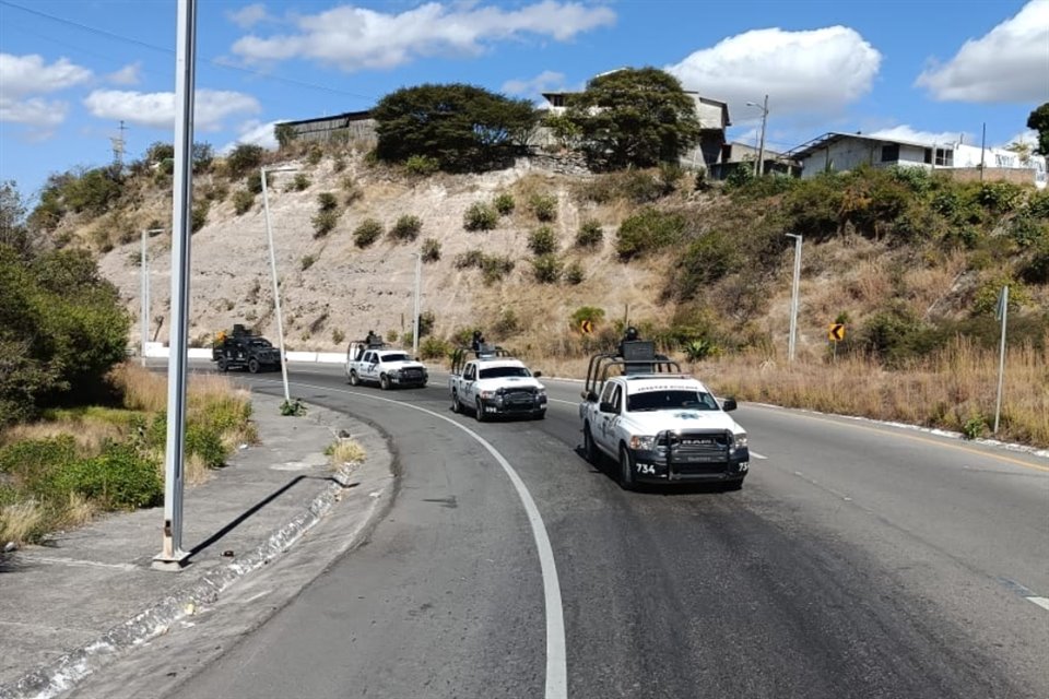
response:
M746 107L768 95L770 115L827 115L870 92L882 55L846 26L804 32L754 29L722 39L665 70L685 90L729 103L730 114L755 115Z

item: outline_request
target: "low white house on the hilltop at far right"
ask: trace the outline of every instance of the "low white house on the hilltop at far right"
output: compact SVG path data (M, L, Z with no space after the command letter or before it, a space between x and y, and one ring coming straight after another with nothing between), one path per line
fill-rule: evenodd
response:
M802 179L820 173L870 167L922 167L962 180L1005 180L1046 186L1046 157L957 142L923 143L862 133L824 133L785 154L801 165Z

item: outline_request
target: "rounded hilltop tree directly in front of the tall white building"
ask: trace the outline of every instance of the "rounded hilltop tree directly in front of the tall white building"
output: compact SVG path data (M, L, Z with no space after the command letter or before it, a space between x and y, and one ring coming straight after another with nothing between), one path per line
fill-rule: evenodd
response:
M657 68L624 68L598 75L568 102L582 150L599 169L675 163L699 141L692 97Z

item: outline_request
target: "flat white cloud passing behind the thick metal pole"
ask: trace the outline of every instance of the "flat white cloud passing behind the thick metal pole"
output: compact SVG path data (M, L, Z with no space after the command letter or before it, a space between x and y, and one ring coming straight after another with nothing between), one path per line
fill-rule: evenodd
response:
M122 119L156 129L175 126L175 93L172 92L96 90L84 98L84 106L99 119ZM198 90L195 107L195 125L202 131L219 130L226 117L262 110L259 102L250 95L215 90Z

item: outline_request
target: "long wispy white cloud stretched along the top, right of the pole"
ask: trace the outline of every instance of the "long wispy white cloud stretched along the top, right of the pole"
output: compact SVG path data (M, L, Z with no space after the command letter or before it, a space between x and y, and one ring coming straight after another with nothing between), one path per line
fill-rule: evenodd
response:
M494 42L526 35L567 42L614 22L610 8L555 0L509 11L427 2L400 14L343 5L297 16L291 34L240 38L233 52L248 62L306 58L345 71L389 69L423 57L476 56Z

